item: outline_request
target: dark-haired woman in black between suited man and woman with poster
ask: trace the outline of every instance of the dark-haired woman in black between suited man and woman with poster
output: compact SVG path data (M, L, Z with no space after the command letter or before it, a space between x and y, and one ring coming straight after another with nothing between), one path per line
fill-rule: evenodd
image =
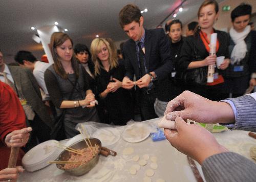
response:
M181 35L182 22L179 19L172 20L169 22L167 29L174 69L165 79L159 81L157 86L158 92L154 108L159 117L164 115L168 102L182 93L181 87L175 80L176 66L180 58L181 47L184 40L184 37Z

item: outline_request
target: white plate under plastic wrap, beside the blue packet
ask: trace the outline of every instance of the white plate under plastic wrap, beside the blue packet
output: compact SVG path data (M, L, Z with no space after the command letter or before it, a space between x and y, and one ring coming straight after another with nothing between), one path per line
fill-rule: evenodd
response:
M145 140L150 135L150 127L144 123L127 125L122 133L126 142L137 143Z

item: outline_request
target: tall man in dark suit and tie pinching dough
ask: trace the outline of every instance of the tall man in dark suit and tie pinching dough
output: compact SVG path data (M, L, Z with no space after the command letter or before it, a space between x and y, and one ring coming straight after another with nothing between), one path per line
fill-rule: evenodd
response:
M126 5L119 13L119 24L130 37L123 45L126 76L123 88L136 87L136 100L142 120L157 118L154 110L157 80L165 79L173 70L169 40L163 29L146 30L143 16L135 5ZM133 82L133 77L136 82Z

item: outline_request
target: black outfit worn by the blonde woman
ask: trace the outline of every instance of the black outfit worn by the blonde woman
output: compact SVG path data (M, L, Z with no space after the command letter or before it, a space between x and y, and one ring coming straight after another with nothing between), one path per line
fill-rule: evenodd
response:
M122 81L124 75L124 65L118 65L109 72L101 69L100 75L95 77L99 101L98 110L100 119L102 120L104 117L103 122L105 123L113 122L115 125L125 125L127 121L134 119L133 103L129 90L120 87L116 92L109 93L104 99L99 98L99 94L106 89L109 82L114 82L113 78Z

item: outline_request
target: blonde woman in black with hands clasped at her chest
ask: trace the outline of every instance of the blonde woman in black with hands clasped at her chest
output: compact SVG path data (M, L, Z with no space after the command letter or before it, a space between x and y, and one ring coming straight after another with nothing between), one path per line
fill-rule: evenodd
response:
M129 90L122 88L125 69L123 65L118 64L116 48L110 41L110 38L108 41L96 38L91 44L97 97L104 122L125 125L127 121L134 119L133 103Z

